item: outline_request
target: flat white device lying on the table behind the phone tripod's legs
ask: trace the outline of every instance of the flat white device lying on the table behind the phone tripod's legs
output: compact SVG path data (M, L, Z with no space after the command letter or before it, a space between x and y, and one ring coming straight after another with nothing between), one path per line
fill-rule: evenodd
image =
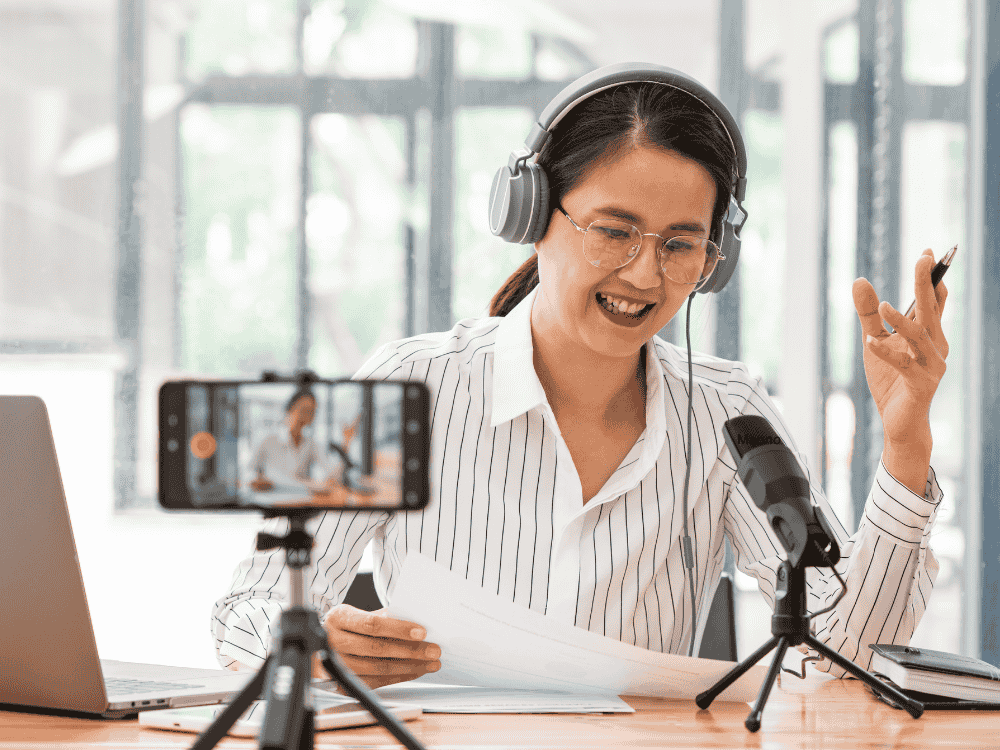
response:
M334 700L340 698L340 700ZM363 727L377 723L375 718L353 698L333 696L315 699L317 731L339 727ZM400 721L416 719L423 712L420 706L384 704L386 711ZM189 708L169 708L162 711L142 711L139 726L153 729L170 729L175 732L203 732L226 707L192 706ZM264 724L264 701L254 701L250 708L237 719L229 730L235 737L256 737Z

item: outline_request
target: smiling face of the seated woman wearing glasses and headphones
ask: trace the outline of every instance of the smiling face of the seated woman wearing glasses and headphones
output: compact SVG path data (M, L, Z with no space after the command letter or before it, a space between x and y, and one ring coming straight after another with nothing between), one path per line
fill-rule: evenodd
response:
M563 196L580 227L617 219L664 237L711 234L715 182L708 170L674 151L640 147L598 164ZM582 344L605 356L631 356L665 326L692 287L660 270L655 237L616 270L596 268L583 255L584 235L556 210L538 252L539 294L532 313L535 335ZM636 320L605 309L610 297L653 307Z

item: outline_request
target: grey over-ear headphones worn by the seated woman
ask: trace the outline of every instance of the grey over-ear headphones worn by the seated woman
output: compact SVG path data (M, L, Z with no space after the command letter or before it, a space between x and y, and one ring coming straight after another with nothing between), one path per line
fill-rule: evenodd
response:
M729 197L729 210L723 217L719 249L725 256L709 279L698 289L701 293L719 292L736 270L740 256L740 230L746 221L743 196L746 190L747 156L739 126L719 99L693 78L673 68L651 63L616 63L588 73L564 88L542 111L538 122L524 140L524 148L510 155L507 166L497 170L490 190L490 231L507 242L534 244L545 236L552 206L549 205L549 181L545 170L529 161L538 154L551 135L552 128L573 109L599 91L623 83L658 83L690 94L704 104L722 123L736 153L737 179Z

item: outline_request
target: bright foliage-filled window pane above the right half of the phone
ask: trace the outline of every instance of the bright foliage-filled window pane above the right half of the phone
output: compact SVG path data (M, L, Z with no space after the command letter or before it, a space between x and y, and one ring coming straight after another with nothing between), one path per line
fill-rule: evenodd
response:
M405 135L399 120L335 114L317 116L312 133L309 363L351 375L403 335Z

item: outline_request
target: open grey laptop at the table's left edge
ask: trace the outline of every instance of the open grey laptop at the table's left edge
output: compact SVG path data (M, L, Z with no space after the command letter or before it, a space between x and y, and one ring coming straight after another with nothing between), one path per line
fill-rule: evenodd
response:
M252 678L98 658L48 411L34 396L0 396L0 534L0 708L120 718L220 703Z

